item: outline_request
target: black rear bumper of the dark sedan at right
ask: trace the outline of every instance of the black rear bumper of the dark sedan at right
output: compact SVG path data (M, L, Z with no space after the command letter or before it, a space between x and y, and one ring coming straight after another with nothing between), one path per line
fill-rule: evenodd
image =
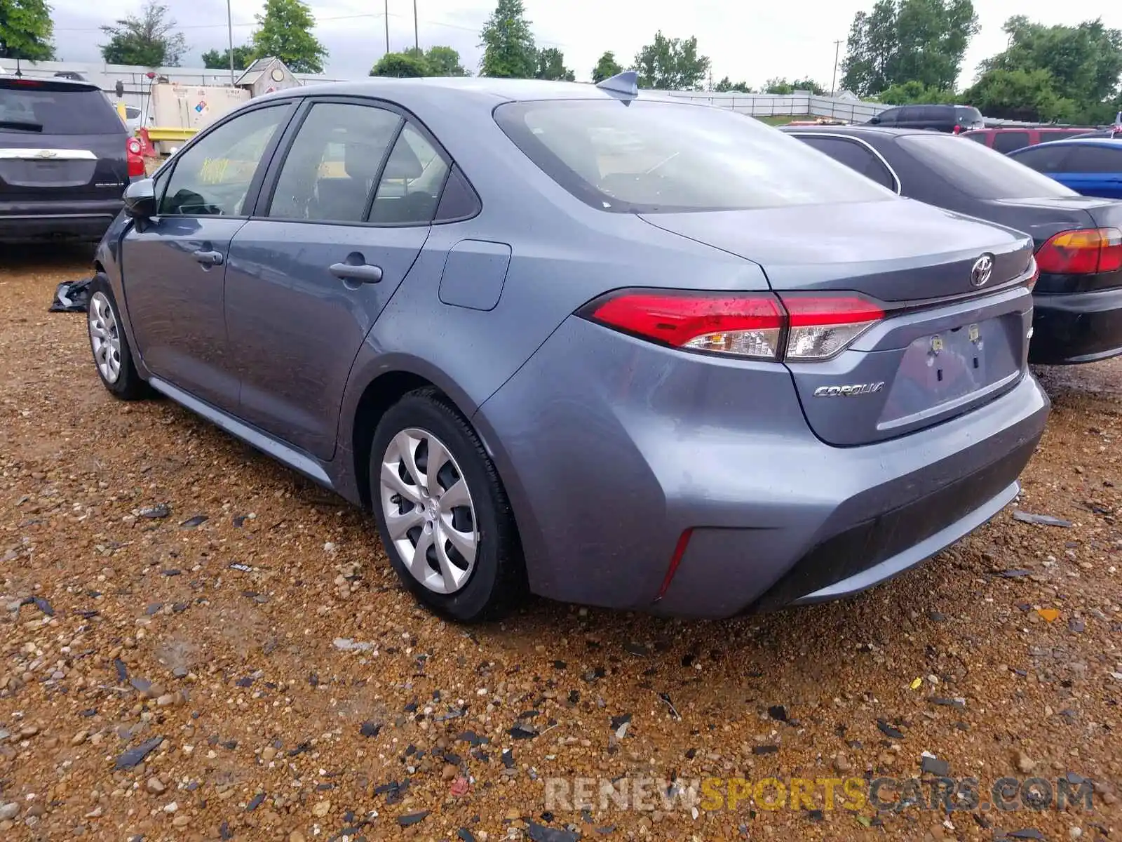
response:
M1029 361L1094 363L1122 354L1122 289L1032 296Z

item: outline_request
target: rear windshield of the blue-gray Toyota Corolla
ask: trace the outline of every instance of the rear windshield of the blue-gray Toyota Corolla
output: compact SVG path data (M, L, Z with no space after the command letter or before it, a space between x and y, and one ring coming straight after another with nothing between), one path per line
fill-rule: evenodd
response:
M888 201L896 195L793 137L705 106L509 102L504 132L562 187L617 213Z

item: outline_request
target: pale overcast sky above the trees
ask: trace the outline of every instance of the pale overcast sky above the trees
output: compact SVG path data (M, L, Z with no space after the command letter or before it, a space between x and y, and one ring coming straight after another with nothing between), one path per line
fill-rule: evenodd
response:
M48 0L54 7L55 44L59 57L74 62L100 61L102 24L135 13L140 0ZM227 44L224 0L165 0L186 36L190 51L184 66L201 66L199 56ZM315 0L315 34L331 55L327 72L337 77L366 75L385 52L386 0ZM465 66L479 64L479 29L495 0L417 0L422 47L445 44L460 52ZM668 37L696 35L698 48L712 60L714 80L729 76L760 86L771 76L811 76L829 88L834 71L834 42L844 39L855 12L872 8L873 0L788 0L782 3L743 0L525 0L539 46L564 52L565 65L579 80L588 80L599 55L614 51L625 67L635 53L662 29ZM93 11L92 7L96 7ZM245 43L254 16L263 8L248 0L232 0L233 42ZM413 45L412 0L388 0L389 45L399 51ZM971 43L960 85L973 81L977 63L1005 46L1001 26L1011 15L1027 15L1046 24L1074 24L1094 16L1091 9L1073 17L1066 3L1054 0L975 0L982 31ZM1104 3L1107 26L1122 28L1122 4ZM842 44L842 55L845 43Z

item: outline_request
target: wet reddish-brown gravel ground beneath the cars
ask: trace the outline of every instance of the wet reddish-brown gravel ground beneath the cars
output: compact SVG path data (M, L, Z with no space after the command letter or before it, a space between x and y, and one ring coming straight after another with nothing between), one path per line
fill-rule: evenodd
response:
M844 604L701 623L536 601L466 629L339 498L167 401L110 399L83 318L46 311L86 260L0 267L0 839L1122 835L1122 364L1041 373L1017 506L1070 525L1006 510ZM546 811L549 778L925 762L982 800L1092 778L1094 809Z

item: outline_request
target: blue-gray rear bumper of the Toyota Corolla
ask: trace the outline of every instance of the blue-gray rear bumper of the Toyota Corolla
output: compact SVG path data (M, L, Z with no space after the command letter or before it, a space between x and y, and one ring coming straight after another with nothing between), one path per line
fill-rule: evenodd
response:
M1027 375L932 428L831 447L776 366L570 319L475 422L535 593L721 617L856 593L958 540L1012 498L1048 408Z

